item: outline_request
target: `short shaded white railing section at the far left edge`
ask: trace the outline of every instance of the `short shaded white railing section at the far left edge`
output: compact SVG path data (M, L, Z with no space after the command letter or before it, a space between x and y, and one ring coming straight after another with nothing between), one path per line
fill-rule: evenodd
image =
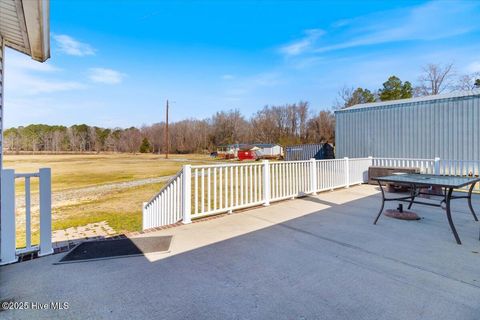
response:
M32 213L31 191L32 179L39 179L39 214L40 242L32 245ZM15 179L23 179L25 184L25 248L17 248ZM1 205L0 205L0 265L13 263L18 255L38 252L39 256L53 253L52 249L52 190L51 171L42 168L36 173L15 173L12 169L4 169L1 173Z

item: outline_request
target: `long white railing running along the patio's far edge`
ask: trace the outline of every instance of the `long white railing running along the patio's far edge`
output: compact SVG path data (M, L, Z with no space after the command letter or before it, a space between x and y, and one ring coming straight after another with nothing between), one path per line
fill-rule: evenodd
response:
M368 181L370 166L416 167L421 173L479 176L479 161L343 158L186 165L143 205L143 229L269 205ZM476 190L480 190L477 185Z

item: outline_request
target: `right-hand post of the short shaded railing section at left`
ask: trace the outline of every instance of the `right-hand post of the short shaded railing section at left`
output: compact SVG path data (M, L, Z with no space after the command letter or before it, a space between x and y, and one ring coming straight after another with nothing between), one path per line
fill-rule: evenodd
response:
M40 252L39 256L53 253L52 248L52 172L50 168L39 170L40 192Z

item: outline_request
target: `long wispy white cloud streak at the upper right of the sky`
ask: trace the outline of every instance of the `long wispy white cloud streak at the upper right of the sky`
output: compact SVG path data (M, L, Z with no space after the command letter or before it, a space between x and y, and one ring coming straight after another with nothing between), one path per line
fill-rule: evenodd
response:
M376 12L332 24L328 42L324 31L306 30L305 37L287 44L280 52L287 56L315 55L329 51L401 41L432 41L454 37L478 28L479 4L432 1L405 9ZM341 27L341 28L340 28Z

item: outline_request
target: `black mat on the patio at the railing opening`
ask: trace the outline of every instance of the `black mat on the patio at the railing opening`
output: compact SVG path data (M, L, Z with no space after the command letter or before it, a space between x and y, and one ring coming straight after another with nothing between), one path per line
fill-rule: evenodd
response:
M59 263L138 256L164 252L170 248L172 236L140 237L86 241L67 253Z

